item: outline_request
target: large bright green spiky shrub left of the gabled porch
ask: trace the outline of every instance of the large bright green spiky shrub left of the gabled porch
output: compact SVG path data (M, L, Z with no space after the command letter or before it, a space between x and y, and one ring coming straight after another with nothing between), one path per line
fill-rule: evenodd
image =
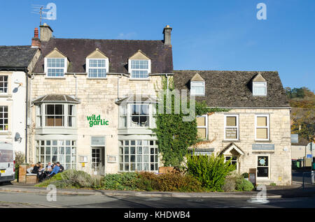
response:
M225 162L224 156L186 156L186 170L190 175L197 178L202 186L209 191L223 191L225 177L235 170L235 165L230 161Z

